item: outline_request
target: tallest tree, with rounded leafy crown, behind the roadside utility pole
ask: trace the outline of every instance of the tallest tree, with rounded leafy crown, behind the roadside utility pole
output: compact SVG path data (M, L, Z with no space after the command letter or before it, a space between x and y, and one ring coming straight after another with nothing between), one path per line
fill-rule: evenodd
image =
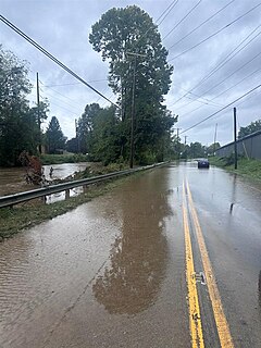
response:
M167 51L157 26L136 5L111 9L92 26L89 41L109 60L109 83L122 108L123 156L128 157L134 96L136 159L140 161L148 152L156 159L175 122L162 104L173 67L166 62Z

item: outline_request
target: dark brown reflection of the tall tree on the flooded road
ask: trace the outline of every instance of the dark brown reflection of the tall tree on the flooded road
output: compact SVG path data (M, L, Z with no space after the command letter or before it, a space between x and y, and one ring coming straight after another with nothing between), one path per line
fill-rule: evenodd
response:
M110 265L92 286L110 313L134 314L156 301L167 259L163 229L171 209L165 191L165 181L159 176L153 191L142 181L120 194L122 233L113 245Z

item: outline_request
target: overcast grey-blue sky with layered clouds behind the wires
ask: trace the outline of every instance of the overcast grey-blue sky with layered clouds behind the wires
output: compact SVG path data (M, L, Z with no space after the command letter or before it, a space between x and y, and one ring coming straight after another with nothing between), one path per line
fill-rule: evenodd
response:
M246 126L251 121L261 119L259 88L207 122L185 132L260 84L261 5L246 14L259 1L177 0L163 22L157 22L160 24L163 45L169 50L169 61L174 65L165 104L174 114L178 114L175 126L181 128L182 141L187 136L187 142L210 145L214 140L216 124L216 140L222 145L232 141L234 107L237 107L238 126ZM171 3L174 4L172 0L0 0L0 13L91 86L115 101L116 97L107 84L108 63L102 62L101 55L92 50L88 41L91 25L109 9L129 4L144 9L156 23ZM228 5L224 10L214 15L226 4ZM184 38L212 15L214 16L210 21ZM240 16L243 17L237 20ZM235 20L235 23L228 25ZM223 27L225 28L222 29ZM212 38L207 39L211 35ZM204 39L204 42L198 45ZM181 41L176 44L178 40ZM75 136L75 119L80 116L87 103L99 102L102 107L109 104L1 21L0 44L3 49L13 51L20 59L28 62L28 77L34 85L32 102L36 100L36 72L39 73L40 97L48 98L50 103L45 126L55 115L64 135L72 138ZM196 45L198 46L192 48ZM202 82L229 53L232 59Z

